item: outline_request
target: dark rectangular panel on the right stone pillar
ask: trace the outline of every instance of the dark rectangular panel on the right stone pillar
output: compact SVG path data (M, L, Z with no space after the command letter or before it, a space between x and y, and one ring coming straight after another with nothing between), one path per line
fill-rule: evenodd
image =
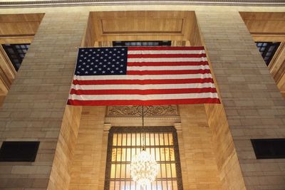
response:
M285 139L251 139L257 159L285 159Z

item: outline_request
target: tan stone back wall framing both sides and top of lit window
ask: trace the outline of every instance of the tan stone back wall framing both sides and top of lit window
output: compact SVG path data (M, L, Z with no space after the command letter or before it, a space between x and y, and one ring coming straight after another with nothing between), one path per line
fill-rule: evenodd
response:
M145 123L177 128L184 189L220 189L204 105L181 105L180 115L181 123L167 117L146 117ZM141 122L141 118L105 118L105 107L83 107L69 189L103 189L108 129L140 126Z

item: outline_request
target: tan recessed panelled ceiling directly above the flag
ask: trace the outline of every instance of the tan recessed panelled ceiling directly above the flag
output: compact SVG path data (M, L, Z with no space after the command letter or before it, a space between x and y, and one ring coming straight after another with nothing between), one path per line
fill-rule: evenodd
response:
M194 11L90 12L94 41L189 41Z

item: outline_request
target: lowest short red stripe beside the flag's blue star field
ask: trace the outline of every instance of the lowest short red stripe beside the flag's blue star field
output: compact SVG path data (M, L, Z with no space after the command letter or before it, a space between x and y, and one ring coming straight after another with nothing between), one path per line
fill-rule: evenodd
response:
M127 70L127 75L176 75L176 74L206 74L209 69L197 70Z

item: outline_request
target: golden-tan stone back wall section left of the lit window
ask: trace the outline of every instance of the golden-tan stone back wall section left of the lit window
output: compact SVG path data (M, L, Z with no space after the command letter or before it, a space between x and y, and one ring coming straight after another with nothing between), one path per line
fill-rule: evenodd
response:
M105 107L83 107L76 141L70 190L103 189L108 133L104 133Z

